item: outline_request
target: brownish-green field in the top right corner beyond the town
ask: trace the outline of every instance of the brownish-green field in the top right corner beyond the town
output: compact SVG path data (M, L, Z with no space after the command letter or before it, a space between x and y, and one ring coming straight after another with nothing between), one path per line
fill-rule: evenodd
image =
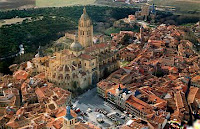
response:
M200 12L200 0L154 0L158 6L173 6L177 12Z

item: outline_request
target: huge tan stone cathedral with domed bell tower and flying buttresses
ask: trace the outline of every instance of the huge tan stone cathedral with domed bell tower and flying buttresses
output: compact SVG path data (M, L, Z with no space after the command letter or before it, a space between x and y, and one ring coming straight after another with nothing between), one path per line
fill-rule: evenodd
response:
M105 73L119 68L117 52L109 43L93 43L93 24L83 9L78 22L78 35L69 49L55 52L54 56L36 57L32 60L37 72L64 89L82 89L96 84Z

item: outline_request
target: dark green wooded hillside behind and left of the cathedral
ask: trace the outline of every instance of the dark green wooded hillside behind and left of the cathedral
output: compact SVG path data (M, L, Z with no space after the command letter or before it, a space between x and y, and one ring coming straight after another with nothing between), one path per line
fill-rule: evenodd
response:
M133 8L114 8L87 6L87 12L93 20L94 29L98 23L110 27L115 20L134 14ZM19 51L23 44L25 55L18 59L0 61L0 73L7 73L8 66L13 62L28 60L33 57L39 46L45 46L63 36L64 32L76 30L78 19L82 14L83 6L60 8L37 8L28 10L12 10L0 12L0 20L31 17L22 23L4 25L0 27L0 58L13 55ZM37 20L39 17L43 17ZM106 29L106 28L105 28ZM99 30L94 30L95 32Z

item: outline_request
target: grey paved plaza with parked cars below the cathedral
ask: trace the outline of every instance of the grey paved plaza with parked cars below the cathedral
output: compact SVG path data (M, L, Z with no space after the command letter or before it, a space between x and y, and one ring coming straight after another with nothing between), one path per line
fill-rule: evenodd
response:
M96 88L93 88L92 90L82 94L77 99L75 99L72 104L73 107L79 108L81 112L86 113L86 115L81 115L81 112L78 113L80 119L83 119L83 121L91 122L94 125L101 127L102 129L107 127L116 127L117 124L124 124L125 121L128 120L128 117L123 119L120 118L124 113L116 109L112 104L100 98L97 95ZM88 111L88 108L91 109L90 112ZM107 115L105 115L103 112L106 112ZM97 116L99 114L102 114L103 116L103 123L97 121ZM107 116L110 116L110 118Z

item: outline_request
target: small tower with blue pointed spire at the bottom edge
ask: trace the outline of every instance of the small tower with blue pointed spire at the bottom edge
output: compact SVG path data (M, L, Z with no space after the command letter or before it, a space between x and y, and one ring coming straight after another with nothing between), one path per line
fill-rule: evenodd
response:
M70 107L66 108L66 115L63 117L62 129L75 129L76 118L71 115Z

